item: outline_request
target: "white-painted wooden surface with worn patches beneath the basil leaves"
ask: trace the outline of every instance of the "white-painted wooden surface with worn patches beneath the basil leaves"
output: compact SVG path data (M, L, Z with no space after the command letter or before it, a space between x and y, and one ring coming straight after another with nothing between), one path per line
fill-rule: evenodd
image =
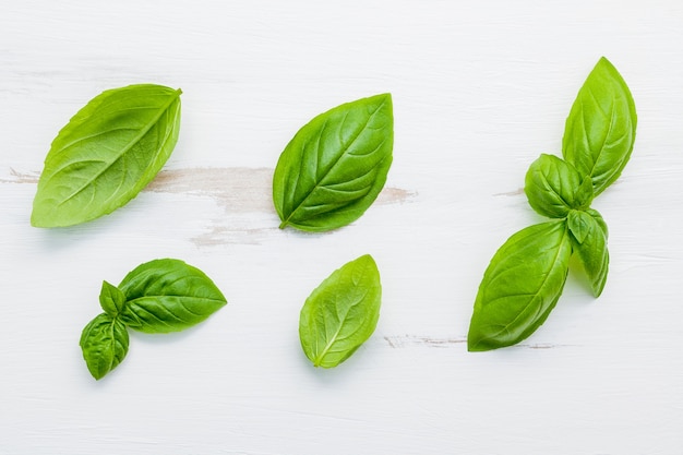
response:
M636 146L594 206L595 300L570 274L522 345L470 354L489 260L540 220L520 191L600 56L628 83ZM180 140L128 206L65 229L28 218L49 144L106 88L181 87ZM279 230L277 158L310 118L391 92L394 164L351 226ZM683 3L2 1L0 453L683 453ZM305 297L371 253L372 338L334 370L298 340ZM178 258L228 298L176 335L131 335L104 380L79 348L103 279Z

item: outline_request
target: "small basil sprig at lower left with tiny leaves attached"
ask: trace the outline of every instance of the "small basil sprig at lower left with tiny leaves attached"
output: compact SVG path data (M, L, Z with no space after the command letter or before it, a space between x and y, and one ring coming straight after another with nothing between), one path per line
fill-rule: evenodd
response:
M128 328L151 334L179 332L206 320L227 303L202 271L175 259L142 264L118 287L104 282L99 302L105 312L85 326L80 343L96 380L125 357Z

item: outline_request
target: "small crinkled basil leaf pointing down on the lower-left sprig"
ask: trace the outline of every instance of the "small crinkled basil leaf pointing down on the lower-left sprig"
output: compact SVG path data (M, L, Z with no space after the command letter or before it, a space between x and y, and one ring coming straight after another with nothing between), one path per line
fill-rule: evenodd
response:
M113 370L128 352L128 331L117 318L103 313L81 334L81 349L88 371L100 380Z

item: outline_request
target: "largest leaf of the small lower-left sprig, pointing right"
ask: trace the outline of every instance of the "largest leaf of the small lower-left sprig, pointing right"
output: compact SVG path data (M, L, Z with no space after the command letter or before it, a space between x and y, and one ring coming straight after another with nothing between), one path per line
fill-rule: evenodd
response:
M127 300L121 321L146 333L182 331L227 303L202 271L175 259L137 266L123 278L119 289Z

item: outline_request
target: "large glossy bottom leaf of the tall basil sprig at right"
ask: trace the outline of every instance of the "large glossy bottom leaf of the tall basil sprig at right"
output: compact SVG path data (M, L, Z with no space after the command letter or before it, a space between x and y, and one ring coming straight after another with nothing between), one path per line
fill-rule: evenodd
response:
M468 350L511 346L541 326L562 294L571 254L564 219L530 226L507 239L479 286Z

